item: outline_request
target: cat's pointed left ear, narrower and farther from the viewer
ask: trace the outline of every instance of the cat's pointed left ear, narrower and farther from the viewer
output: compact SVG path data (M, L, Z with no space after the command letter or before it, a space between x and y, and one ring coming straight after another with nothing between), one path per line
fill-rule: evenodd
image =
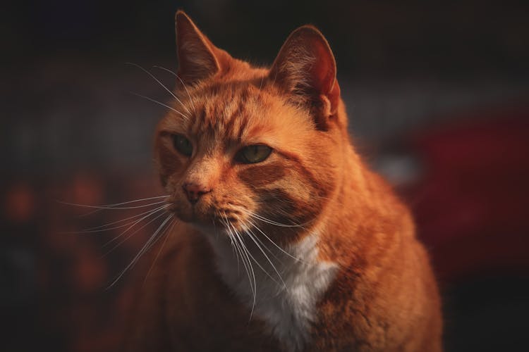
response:
M178 75L186 83L212 77L222 68L221 51L200 32L193 21L181 10L175 15Z

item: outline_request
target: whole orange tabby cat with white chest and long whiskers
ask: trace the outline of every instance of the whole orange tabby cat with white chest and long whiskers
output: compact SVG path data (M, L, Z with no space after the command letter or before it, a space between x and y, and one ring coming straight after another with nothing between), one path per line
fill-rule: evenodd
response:
M441 351L427 253L351 145L322 34L298 28L269 69L182 11L176 34L155 151L179 222L152 251L128 350Z

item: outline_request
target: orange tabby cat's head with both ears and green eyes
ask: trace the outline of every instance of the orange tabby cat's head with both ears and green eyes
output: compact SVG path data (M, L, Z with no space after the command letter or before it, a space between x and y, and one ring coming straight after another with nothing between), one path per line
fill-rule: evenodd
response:
M300 27L267 69L214 46L181 11L176 38L177 99L155 136L171 210L205 232L293 241L334 194L347 139L329 44Z

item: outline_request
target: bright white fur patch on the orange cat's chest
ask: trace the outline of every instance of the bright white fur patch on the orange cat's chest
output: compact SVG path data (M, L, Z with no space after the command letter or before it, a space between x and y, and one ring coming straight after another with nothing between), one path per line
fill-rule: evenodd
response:
M310 322L317 318L317 301L337 269L334 263L318 260L318 234L310 234L284 249L290 256L267 240L259 246L247 240L249 253L245 264L241 255L237 258L238 250L233 249L228 237L207 237L217 255L224 282L289 351L301 350L309 341ZM265 242L270 244L267 248ZM252 263L253 271L248 262Z

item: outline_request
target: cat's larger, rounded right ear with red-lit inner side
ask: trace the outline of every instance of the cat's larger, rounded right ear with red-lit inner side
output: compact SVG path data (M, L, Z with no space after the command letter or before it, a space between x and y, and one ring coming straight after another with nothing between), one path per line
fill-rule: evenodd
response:
M334 55L319 30L305 25L292 32L272 64L269 78L295 103L310 106L318 127L327 129L329 118L336 115L340 87Z

